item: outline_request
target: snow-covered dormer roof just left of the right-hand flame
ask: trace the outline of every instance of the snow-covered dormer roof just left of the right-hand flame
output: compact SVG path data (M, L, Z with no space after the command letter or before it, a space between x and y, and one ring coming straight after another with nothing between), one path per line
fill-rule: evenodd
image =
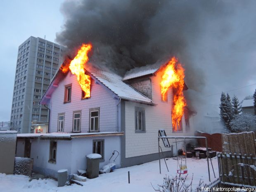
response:
M135 68L131 69L130 71L126 72L126 74L123 77L123 81L133 79L133 78L137 78L137 77L141 77L141 76L145 76L145 75L149 75L149 74L153 74L163 64L164 64L163 62L157 62L157 63L152 64L152 65L147 65L147 66L142 66L142 67L135 67Z

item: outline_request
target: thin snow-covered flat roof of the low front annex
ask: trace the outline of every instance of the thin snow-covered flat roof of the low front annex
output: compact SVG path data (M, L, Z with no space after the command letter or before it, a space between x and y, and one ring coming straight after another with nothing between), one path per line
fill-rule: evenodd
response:
M66 138L72 139L76 137L100 136L100 135L123 135L123 132L97 132L97 133L21 133L17 134L19 138L40 137L40 138Z

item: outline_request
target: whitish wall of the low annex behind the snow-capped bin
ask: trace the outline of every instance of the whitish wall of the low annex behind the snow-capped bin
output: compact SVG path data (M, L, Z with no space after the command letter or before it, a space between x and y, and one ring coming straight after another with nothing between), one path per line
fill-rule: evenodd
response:
M109 163L114 150L120 153L120 136L73 138L72 140L57 140L56 164L48 162L50 140L35 139L31 143L31 158L34 159L35 171L57 177L59 169L68 169L69 173L77 173L78 169L86 169L86 155L92 153L93 140L104 139L104 161L100 168ZM114 159L111 159L113 161ZM120 167L120 155L115 161Z

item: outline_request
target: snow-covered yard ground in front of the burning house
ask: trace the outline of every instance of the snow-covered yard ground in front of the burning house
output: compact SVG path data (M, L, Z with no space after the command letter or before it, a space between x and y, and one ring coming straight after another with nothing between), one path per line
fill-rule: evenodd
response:
M72 184L70 186L57 187L57 181L53 179L40 179L29 181L24 175L5 175L0 173L0 192L154 192L151 186L163 183L165 175L176 175L177 161L175 158L168 159L167 165L170 172L167 172L164 159L161 159L162 174L159 173L159 161L152 161L146 164L119 168L112 173L101 174L98 178L88 179L84 186ZM218 177L217 158L212 159L213 168ZM214 179L210 165L211 179ZM192 178L194 173L193 186L196 187L199 180L208 183L208 171L206 159L187 159L188 177ZM128 184L128 171L130 171L130 184ZM193 187L193 188L194 188Z

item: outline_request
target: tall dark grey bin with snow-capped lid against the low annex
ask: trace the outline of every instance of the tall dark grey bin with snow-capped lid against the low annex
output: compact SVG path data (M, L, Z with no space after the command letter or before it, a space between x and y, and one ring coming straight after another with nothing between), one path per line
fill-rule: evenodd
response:
M100 159L101 155L97 153L92 153L89 155L86 155L87 158L87 177L90 179L99 177L99 171L100 171Z

